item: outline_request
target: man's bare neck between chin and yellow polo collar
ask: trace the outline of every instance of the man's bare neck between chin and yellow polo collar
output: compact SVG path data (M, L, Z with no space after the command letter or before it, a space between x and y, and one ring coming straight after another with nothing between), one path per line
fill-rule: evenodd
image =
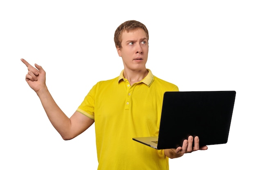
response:
M140 82L148 75L148 71L145 68L144 70L132 71L124 69L124 78L128 79L130 85Z

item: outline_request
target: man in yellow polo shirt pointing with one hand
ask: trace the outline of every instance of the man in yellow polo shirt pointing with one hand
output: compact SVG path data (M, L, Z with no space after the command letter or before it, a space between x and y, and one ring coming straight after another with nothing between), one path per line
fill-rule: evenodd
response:
M70 118L49 93L43 68L35 64L36 69L21 59L28 68L27 83L63 139L72 139L95 123L98 170L168 170L168 158L206 150L207 146L199 148L199 138L192 136L182 146L166 150L155 150L132 140L158 135L164 92L178 91L178 87L155 77L146 68L148 30L144 24L135 20L124 22L115 31L114 40L124 70L119 77L94 85Z

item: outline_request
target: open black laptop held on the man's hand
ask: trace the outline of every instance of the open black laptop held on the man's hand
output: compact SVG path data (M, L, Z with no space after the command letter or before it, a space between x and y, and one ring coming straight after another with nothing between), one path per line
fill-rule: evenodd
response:
M157 137L133 140L155 149L177 148L190 135L199 145L226 144L236 91L165 92Z

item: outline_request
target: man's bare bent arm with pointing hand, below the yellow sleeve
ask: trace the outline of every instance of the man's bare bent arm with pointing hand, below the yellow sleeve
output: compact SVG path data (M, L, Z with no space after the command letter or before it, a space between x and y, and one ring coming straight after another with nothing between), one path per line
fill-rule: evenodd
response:
M64 140L76 137L94 123L94 120L77 111L72 115L72 117L68 118L61 108L58 107L52 95L49 93L45 84L45 71L43 68L35 64L36 69L26 60L21 59L21 61L28 68L28 73L26 75L27 83L40 98L49 120Z

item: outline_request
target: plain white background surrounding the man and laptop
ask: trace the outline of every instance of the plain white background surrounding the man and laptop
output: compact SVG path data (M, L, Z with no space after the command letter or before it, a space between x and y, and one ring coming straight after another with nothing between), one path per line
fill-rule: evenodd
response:
M70 117L94 84L123 69L113 38L126 20L147 26L147 68L157 77L180 91L237 92L228 143L170 159L170 169L255 169L254 1L167 2L0 1L1 170L97 169L94 126L64 141L25 82L20 58L43 66Z

